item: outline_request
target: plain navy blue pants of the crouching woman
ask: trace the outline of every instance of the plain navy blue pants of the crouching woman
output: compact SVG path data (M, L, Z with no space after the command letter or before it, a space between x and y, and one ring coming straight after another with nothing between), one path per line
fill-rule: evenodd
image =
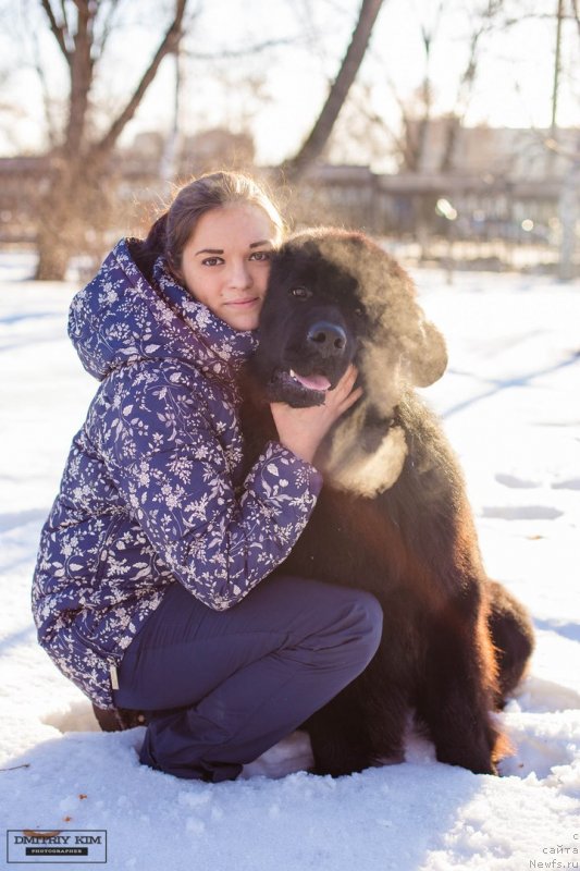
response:
M235 780L359 675L381 640L371 593L273 575L227 611L173 584L127 648L114 700L147 712L144 764Z

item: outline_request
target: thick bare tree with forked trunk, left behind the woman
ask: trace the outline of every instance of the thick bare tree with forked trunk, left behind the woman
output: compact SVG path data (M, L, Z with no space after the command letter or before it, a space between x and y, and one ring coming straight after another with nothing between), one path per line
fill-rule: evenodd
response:
M49 180L38 205L38 279L61 279L71 250L82 238L87 214L98 221L104 197L101 179L126 124L133 119L162 60L177 50L187 0L175 0L172 20L125 105L104 133L91 128L90 96L119 0L40 0L64 58L70 93L60 142L51 150ZM41 71L39 71L41 72Z

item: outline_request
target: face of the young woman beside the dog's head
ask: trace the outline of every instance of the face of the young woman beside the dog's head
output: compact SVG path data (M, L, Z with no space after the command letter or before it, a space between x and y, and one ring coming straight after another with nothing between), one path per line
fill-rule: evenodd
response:
M257 206L212 209L199 219L183 249L180 279L234 330L255 330L274 238L274 225Z

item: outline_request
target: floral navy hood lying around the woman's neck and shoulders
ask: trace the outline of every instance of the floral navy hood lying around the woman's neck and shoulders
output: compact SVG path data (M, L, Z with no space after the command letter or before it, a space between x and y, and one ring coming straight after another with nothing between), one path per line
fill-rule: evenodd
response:
M69 335L85 369L99 381L144 359L180 358L227 377L258 344L256 332L234 330L175 282L163 258L149 283L118 243L98 274L73 298Z

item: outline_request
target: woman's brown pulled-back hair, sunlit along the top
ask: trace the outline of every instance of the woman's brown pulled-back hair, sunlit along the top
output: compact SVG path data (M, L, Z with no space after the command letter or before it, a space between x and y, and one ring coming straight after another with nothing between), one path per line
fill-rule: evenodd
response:
M180 275L183 249L199 219L212 209L234 204L260 208L275 229L275 243L284 235L284 221L266 191L239 172L201 175L180 188L169 209L153 223L147 238L132 241L131 250L141 272L151 277L153 263L163 255L169 268Z

